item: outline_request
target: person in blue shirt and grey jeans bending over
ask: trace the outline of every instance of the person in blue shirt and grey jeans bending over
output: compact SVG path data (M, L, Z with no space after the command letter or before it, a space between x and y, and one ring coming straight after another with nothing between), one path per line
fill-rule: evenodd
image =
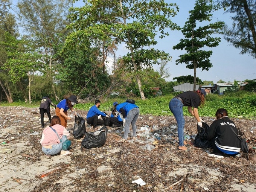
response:
M136 121L139 117L140 110L137 105L127 101L129 100L116 106L116 110L120 113L120 117L123 119L125 129L123 138L119 142L127 142L128 133L130 132L130 124L133 128L133 139L136 139Z

